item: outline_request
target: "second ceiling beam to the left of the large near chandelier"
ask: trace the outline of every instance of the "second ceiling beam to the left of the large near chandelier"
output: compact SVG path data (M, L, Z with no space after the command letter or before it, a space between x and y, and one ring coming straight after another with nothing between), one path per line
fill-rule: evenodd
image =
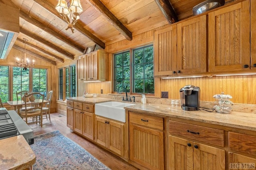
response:
M62 53L69 59L74 60L74 55L68 53L67 51L63 50L62 48L58 47L57 45L54 45L54 44L50 43L49 41L45 41L44 39L38 37L37 35L32 34L30 31L20 28L20 33L23 33L23 34L27 35L28 37L35 39L39 43L42 43L42 44L50 47L51 49L54 49L54 50L58 51L59 53Z

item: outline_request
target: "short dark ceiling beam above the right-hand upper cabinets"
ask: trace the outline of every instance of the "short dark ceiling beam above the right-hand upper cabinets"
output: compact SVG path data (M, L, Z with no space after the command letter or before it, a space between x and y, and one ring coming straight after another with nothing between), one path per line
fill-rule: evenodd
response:
M168 23L178 22L178 16L172 8L169 0L155 0L155 2L160 8L161 12L164 14L164 17L166 18Z

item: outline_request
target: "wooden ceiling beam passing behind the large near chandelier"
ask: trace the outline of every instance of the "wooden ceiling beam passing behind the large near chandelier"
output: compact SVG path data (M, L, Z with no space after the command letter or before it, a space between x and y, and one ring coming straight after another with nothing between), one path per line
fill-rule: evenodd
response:
M55 9L55 6L53 6L50 2L48 2L48 0L34 0L34 2L38 3L40 6L42 6L42 8L48 10L49 12L51 12L53 15L57 16L58 18L60 18L61 20L62 17L60 16L60 14L57 12L57 10ZM56 4L57 5L57 4ZM90 33L90 31L88 31L87 29L85 29L84 27L82 27L82 25L80 25L79 23L76 23L74 25L74 28L76 28L79 32L81 32L82 34L84 34L86 37L88 37L89 39L91 39L94 43L96 43L98 46L100 46L102 49L105 49L105 43L103 41L101 41L98 37L96 37L95 35L93 35L92 33Z

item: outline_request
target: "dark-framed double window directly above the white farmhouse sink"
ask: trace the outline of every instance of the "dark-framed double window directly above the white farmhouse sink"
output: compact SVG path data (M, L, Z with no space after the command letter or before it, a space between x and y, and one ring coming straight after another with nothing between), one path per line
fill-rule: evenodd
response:
M153 45L131 51L114 55L114 91L154 94Z

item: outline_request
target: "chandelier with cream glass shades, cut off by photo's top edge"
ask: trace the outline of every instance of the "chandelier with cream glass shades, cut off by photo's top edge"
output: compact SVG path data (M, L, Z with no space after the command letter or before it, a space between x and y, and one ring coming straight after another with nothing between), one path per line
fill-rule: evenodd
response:
M83 11L80 0L71 0L68 8L66 0L59 0L55 9L60 13L63 20L68 23L67 29L71 29L74 33L73 25L78 21L79 14Z

